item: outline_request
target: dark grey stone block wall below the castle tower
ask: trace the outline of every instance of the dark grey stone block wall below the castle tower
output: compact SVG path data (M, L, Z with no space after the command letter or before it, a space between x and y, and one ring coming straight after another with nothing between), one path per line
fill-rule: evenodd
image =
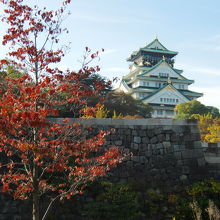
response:
M61 123L62 119L52 121ZM207 163L211 152L207 150L204 154L195 120L72 119L72 122L93 127L94 133L111 131L105 145L116 145L132 154L108 173L112 181L178 191L184 185L217 174L218 168ZM220 151L216 150L215 156L219 155ZM0 220L31 219L28 201L12 201L5 195L0 196ZM71 202L61 204L53 220L71 220L73 210Z

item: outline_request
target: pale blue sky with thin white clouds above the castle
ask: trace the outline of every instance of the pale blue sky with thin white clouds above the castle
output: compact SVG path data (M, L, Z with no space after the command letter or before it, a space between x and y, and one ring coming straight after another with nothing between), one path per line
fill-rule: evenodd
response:
M61 0L26 2L56 9ZM80 68L86 46L104 48L96 61L101 75L120 78L129 73L130 54L158 37L166 48L179 52L175 67L195 80L189 89L204 94L198 100L220 109L219 0L72 0L68 10L63 25L69 34L62 43L71 42L71 49L62 67ZM1 24L0 40L3 34ZM0 46L0 56L4 53Z

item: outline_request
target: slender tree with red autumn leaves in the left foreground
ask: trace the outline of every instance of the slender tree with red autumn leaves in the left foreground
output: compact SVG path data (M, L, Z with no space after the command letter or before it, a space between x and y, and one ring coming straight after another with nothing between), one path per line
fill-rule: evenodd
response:
M98 67L88 67L86 62L78 72L55 67L64 51L52 46L59 45L62 17L70 0L57 11L31 8L22 0L1 2L5 7L2 20L9 25L2 44L10 44L12 60L2 59L0 65L14 65L22 73L0 81L1 188L15 199L32 198L33 220L44 220L55 200L81 193L88 181L104 176L122 156L116 147L102 147L106 132L89 137L78 124L48 119L59 115L56 106L84 104L84 97L103 87L97 82L94 91L82 83ZM86 48L88 55L93 59L98 53ZM57 98L60 94L65 94L62 99ZM40 214L40 198L45 194L50 201Z

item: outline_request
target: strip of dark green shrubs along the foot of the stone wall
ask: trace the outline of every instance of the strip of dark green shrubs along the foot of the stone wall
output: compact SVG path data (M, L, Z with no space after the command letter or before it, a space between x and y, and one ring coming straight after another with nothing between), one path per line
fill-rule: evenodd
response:
M167 194L147 186L130 186L101 182L89 187L89 198L84 200L84 216L106 220L169 219L211 220L210 201L220 207L220 183L206 179L182 188L178 193ZM196 205L196 207L195 207Z

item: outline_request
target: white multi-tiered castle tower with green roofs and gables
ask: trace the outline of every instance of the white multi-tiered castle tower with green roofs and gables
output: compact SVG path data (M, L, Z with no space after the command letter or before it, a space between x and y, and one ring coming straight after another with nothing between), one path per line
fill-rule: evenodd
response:
M131 94L135 99L148 103L152 117L171 118L174 107L201 97L202 93L190 91L194 80L185 78L182 70L174 68L174 57L156 38L150 44L134 51L127 61L132 62L130 72L121 80L116 91Z

